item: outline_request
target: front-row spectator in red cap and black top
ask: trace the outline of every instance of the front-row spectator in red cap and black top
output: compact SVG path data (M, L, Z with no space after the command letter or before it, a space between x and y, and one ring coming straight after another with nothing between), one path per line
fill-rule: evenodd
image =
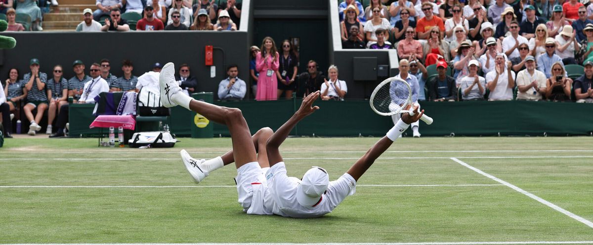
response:
M428 81L428 93L432 101L457 100L457 87L455 79L447 76L447 63L439 62L436 65L438 76Z

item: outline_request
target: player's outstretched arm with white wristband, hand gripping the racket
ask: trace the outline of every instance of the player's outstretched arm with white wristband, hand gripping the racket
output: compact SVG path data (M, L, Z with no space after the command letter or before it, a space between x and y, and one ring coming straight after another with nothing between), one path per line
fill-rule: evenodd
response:
M408 104L406 110L409 108L410 105ZM369 169L369 167L371 167L375 160L377 160L377 158L379 158L381 154L383 154L387 149L389 149L389 147L391 146L391 144L393 144L393 141L397 138L397 136L401 135L401 132L405 131L410 124L416 123L418 120L420 120L422 114L424 114L424 110L420 111L419 113L417 106L414 108L414 116L410 116L410 114L407 113L401 114L401 122L398 121L397 124L390 130L390 132L387 133L387 136L382 137L379 141L377 141L377 143L375 143L371 147L371 149L366 151L364 156L358 159L356 163L354 163L354 165L352 165L352 167L350 167L350 169L348 169L346 173L352 176L354 180L358 181L358 179L361 178L362 174L364 174L366 170ZM400 125L400 123L403 123L403 125ZM397 134L397 136L390 136L392 131L397 131L399 133Z

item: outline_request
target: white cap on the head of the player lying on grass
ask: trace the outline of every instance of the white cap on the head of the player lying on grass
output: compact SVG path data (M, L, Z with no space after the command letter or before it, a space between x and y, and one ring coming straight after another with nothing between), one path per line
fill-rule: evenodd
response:
M297 186L297 201L305 207L311 207L320 202L321 195L327 190L330 177L325 169L313 166L302 176L301 184Z

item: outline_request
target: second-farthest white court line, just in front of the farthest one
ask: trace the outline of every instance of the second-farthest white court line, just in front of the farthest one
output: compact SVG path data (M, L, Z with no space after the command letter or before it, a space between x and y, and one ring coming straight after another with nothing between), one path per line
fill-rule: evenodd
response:
M593 156L481 156L481 157L457 157L463 159L522 159L522 158L593 158ZM284 160L356 160L359 157L285 157ZM379 157L378 159L451 159L451 157ZM163 160L163 161L178 161L178 158L1 158L0 161L9 160L56 160L56 161L138 161L138 160Z

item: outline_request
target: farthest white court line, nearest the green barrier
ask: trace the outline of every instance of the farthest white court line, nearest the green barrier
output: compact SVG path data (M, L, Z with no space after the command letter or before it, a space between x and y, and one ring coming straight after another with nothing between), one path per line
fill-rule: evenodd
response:
M10 150L7 150L10 151ZM11 151L7 153L15 153L21 151ZM36 153L55 153L63 154L56 151L43 151L36 150ZM68 151L68 154L130 154L130 153L146 153L146 154L179 154L178 151L152 151L152 150L139 150L139 149L118 149L116 151L98 150L98 151ZM282 153L365 153L366 151L282 151ZM593 150L388 150L385 153L497 153L497 152L593 152ZM221 154L226 151L196 151L200 154Z

